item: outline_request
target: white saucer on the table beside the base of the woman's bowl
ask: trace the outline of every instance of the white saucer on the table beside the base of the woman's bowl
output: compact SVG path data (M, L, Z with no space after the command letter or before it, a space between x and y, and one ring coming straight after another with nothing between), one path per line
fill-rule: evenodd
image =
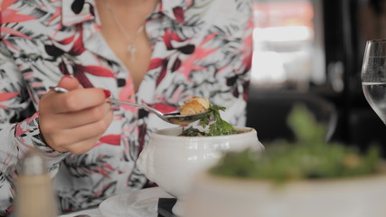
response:
M99 204L104 217L156 217L159 198L174 198L159 187L122 193Z

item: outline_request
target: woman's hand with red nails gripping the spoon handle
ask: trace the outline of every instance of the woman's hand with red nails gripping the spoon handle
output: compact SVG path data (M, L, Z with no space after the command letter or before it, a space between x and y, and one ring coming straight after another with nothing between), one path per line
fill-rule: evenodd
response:
M83 89L75 78L64 76L58 86L69 90L45 94L39 103L39 127L46 144L59 152L89 151L110 125L113 112L109 91Z

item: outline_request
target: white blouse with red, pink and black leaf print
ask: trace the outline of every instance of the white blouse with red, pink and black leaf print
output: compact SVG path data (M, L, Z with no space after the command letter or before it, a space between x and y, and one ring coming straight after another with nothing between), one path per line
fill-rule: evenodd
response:
M152 132L175 127L145 110L114 106L112 124L89 152L54 151L40 137L37 109L63 75L164 112L201 96L226 107L221 117L231 124L245 124L249 0L160 0L146 19L153 52L137 92L130 71L100 33L94 0L0 3L0 216L13 210L17 164L31 148L45 157L61 212L70 212L143 188L148 181L137 169L137 156Z

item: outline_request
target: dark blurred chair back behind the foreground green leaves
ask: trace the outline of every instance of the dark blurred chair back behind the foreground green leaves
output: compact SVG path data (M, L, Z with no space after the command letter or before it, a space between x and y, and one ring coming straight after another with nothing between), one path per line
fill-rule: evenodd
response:
M317 121L327 125L325 139L329 141L336 128L337 111L332 102L311 93L252 90L247 105L247 126L258 131L263 144L277 139L294 141L294 132L287 126L287 116L297 103L304 104Z

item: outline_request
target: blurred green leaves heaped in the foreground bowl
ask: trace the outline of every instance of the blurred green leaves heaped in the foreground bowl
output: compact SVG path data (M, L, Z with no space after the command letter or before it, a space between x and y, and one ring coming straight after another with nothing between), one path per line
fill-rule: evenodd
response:
M378 148L361 154L352 146L325 142L326 127L302 105L288 116L297 142L266 145L262 155L250 151L227 153L211 170L213 175L268 179L276 183L299 179L330 179L381 172Z

